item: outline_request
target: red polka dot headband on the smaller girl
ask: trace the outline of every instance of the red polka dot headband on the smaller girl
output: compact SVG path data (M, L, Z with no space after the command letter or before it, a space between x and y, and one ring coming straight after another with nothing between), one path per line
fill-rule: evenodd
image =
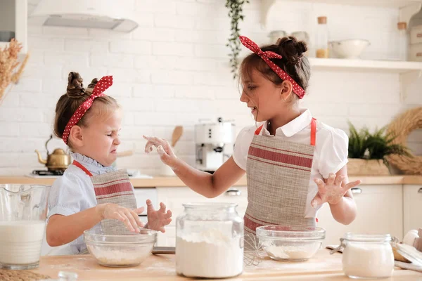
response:
M95 85L91 96L89 96L89 98L85 100L82 105L79 105L79 107L77 107L77 110L75 111L75 113L73 113L68 124L66 125L65 131L63 131L62 139L65 144L68 144L68 138L72 126L75 126L77 122L79 122L79 120L82 118L82 116L84 116L85 112L89 110L92 103L94 102L94 99L101 96L106 96L103 92L106 91L111 85L113 85L113 76L105 76L101 78L100 81L98 81Z

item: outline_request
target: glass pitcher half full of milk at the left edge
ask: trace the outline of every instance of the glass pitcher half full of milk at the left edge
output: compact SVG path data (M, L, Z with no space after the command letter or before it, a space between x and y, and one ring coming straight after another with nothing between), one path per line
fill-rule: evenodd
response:
M0 185L0 268L39 266L50 186Z

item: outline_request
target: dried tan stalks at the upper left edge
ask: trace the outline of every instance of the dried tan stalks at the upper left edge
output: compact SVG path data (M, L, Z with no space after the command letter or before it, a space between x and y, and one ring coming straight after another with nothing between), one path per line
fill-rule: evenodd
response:
M23 63L20 64L18 71L15 71L15 68L19 65L17 60L21 49L22 44L15 39L12 39L11 43L4 49L0 49L0 103L4 96L6 96L5 91L8 85L11 82L15 84L18 82L29 58L29 54L27 54Z

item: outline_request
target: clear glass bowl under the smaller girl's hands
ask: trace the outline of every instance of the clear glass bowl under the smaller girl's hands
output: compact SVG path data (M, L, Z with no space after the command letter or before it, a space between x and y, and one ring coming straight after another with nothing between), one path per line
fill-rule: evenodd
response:
M157 231L141 229L141 233L106 235L101 228L93 228L84 231L84 241L101 266L139 266L150 256Z

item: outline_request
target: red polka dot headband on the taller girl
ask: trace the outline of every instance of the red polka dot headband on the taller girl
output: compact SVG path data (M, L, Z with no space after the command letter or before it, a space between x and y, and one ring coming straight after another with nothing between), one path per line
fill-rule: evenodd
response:
M241 36L239 37L239 39L241 39L241 43L243 44L243 46L245 46L246 48L250 49L250 51L259 55L262 58L262 60L264 60L264 62L267 63L269 67L271 67L271 70L276 72L276 74L279 75L281 79L290 81L290 83L293 86L293 93L295 93L299 98L303 98L303 96L305 96L305 90L302 89L302 87L299 86L299 84L296 83L296 81L293 80L293 78L290 77L289 74L287 74L284 70L282 70L279 67L279 65L276 65L270 60L270 58L283 58L281 55L279 55L278 53L271 52L271 51L265 51L265 52L262 51L261 48L254 41L250 40L248 37Z

